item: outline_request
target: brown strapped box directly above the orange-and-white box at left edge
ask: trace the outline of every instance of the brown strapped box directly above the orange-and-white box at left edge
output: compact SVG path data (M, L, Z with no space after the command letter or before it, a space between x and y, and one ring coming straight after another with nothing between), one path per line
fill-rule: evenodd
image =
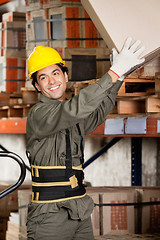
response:
M0 56L25 57L26 23L3 22L0 29Z

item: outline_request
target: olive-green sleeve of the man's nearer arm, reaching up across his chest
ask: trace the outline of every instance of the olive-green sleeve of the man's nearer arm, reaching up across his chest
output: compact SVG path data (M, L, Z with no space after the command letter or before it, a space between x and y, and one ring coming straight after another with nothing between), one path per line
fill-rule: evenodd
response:
M41 139L87 119L104 104L103 101L106 102L106 98L107 102L112 102L109 105L113 105L113 85L110 75L106 73L97 83L82 89L71 100L59 102L50 99L47 104L38 103L29 113L27 129L32 129L37 138Z

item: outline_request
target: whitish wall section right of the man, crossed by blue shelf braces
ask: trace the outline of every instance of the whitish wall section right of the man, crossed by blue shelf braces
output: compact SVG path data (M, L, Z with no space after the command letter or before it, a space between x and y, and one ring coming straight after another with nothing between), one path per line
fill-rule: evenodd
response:
M89 159L99 151L105 138L87 138L85 159ZM103 141L103 144L102 144ZM107 142L106 142L107 143ZM142 185L156 185L156 138L142 140ZM130 186L131 185L131 139L123 138L108 152L104 153L95 162L85 169L86 181L93 186Z

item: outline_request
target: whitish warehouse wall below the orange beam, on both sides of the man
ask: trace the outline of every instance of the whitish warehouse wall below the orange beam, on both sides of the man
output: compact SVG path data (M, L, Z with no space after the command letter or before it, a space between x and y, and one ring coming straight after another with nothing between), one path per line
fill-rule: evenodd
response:
M110 138L86 138L85 160L99 151ZM143 138L142 141L142 183L143 186L156 185L156 138ZM23 134L0 134L0 144L9 151L17 153L27 165L25 155L26 141ZM0 182L16 181L20 169L14 160L0 158ZM123 138L105 154L85 169L85 179L93 186L131 185L131 139ZM27 171L25 183L30 183Z

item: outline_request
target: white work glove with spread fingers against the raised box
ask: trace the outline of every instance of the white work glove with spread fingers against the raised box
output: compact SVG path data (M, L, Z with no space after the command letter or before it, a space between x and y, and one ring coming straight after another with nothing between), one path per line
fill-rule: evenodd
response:
M132 38L129 37L119 54L115 48L112 49L113 64L110 70L114 72L119 78L121 78L134 66L145 61L145 58L140 58L140 55L144 51L145 47L143 46L136 50L141 42L137 40L133 45L131 45L131 41Z

